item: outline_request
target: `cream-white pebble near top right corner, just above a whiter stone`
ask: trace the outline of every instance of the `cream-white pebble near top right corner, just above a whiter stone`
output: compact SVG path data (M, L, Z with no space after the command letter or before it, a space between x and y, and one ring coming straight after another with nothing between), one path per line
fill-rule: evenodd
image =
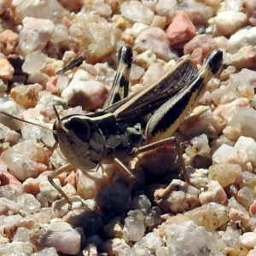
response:
M218 36L229 37L239 28L247 25L247 15L242 12L226 10L219 12L216 17L209 20L215 26Z

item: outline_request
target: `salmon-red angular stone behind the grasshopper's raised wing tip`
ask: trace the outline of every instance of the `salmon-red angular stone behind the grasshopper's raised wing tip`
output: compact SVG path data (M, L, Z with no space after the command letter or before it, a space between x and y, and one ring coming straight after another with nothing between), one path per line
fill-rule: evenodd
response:
M196 29L189 15L185 12L178 12L167 30L167 38L170 46L187 43L195 37Z

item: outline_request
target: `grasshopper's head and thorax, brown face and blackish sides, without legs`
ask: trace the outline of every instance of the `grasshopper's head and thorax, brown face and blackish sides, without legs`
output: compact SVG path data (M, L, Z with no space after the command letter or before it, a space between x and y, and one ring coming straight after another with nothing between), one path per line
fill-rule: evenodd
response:
M125 126L117 124L113 114L105 112L64 117L55 121L54 130L55 140L70 164L87 171L100 162L124 160L141 138L139 132L126 131Z

